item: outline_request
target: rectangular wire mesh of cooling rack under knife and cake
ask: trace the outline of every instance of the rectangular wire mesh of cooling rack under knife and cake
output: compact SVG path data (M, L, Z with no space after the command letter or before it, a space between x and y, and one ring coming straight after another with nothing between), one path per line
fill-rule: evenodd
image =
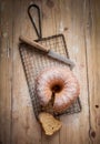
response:
M36 40L36 41L43 44L44 47L52 49L53 51L58 52L63 56L69 58L63 34L42 38L41 40ZM62 66L68 66L68 65L49 58L47 54L44 54L43 52L37 49L31 49L29 45L24 43L20 44L19 50L20 50L21 60L27 76L33 111L36 117L38 117L38 114L42 111L42 109L39 103L37 93L34 91L37 75L44 68L50 68L51 65L62 65ZM60 114L57 113L56 115L59 116L61 114L72 114L72 113L78 113L80 111L81 111L81 104L80 104L80 99L78 97L77 101L69 109L67 109L63 113Z

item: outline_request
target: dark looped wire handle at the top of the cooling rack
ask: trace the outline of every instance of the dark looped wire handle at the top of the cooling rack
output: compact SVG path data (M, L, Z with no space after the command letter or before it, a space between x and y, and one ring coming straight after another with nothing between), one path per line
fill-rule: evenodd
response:
M33 10L33 9L37 10L38 20L39 20L39 21L38 21L38 22L39 22L39 30L38 30L38 28L37 28L37 25L36 25L34 20L33 20L33 17L32 17L32 13L31 13L31 9L32 9L32 10ZM32 23L32 25L33 25L33 28L34 28L34 30L36 30L36 33L37 33L37 35L38 35L38 39L40 40L40 39L42 38L40 8L39 8L37 4L30 4L30 6L28 7L28 14L29 14L29 18L30 18L30 20L31 20L31 23Z

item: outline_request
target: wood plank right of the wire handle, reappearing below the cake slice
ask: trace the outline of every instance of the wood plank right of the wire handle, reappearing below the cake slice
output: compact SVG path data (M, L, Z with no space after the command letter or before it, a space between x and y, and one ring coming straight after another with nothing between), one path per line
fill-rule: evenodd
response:
M54 19L54 6L57 1L42 1L41 3L42 14L42 37L47 38L56 34L56 19ZM52 136L46 136L42 132L42 144L59 144L59 132Z

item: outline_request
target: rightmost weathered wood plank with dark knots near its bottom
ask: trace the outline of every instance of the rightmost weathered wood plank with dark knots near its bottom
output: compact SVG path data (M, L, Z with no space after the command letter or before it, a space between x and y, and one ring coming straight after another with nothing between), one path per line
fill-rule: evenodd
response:
M90 0L86 3L89 11L86 17L86 44L90 104L90 138L100 144L100 1Z

